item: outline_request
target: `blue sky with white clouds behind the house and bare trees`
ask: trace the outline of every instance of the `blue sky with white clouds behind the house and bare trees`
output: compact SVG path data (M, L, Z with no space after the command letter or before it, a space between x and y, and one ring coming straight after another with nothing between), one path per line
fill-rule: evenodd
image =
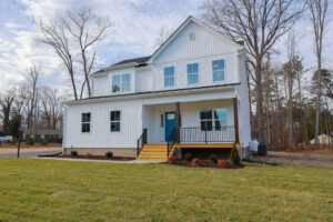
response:
M67 82L67 73L52 49L34 40L33 18L52 18L61 10L78 6L90 6L95 13L108 16L113 27L108 39L95 47L95 69L99 69L122 59L151 54L161 28L174 30L190 14L201 19L201 4L202 0L0 0L0 91L22 84L31 62L41 63L43 84L59 87ZM302 19L295 29L297 52L304 58L305 67L313 68L315 58L309 20ZM324 65L329 68L333 63L332 31L331 20L324 50ZM285 61L283 42L281 39L276 44L281 62Z

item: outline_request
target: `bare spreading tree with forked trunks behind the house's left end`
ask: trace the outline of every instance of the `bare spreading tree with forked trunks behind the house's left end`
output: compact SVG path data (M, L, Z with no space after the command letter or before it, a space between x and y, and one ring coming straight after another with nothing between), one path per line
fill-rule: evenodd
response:
M109 18L95 17L90 8L80 8L59 13L49 22L39 19L36 24L43 36L38 40L51 46L64 63L71 79L74 99L79 99L75 79L77 62L82 64L84 79L80 98L82 98L84 87L87 87L88 95L91 97L89 74L95 62L92 46L109 34L111 27ZM78 52L80 56L77 56Z

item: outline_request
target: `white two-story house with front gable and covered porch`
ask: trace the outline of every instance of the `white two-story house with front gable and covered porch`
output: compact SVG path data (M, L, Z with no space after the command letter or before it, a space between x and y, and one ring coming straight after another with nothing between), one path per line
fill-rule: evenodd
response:
M90 78L93 97L65 103L64 153L163 159L249 147L245 50L193 17L152 56Z

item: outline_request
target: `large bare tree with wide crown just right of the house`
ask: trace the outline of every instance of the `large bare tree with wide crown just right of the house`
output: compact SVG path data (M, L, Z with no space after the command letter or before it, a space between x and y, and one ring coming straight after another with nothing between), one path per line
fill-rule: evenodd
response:
M232 40L243 40L248 49L256 85L259 140L265 142L262 63L278 39L286 33L302 14L304 4L296 0L206 0L204 18Z

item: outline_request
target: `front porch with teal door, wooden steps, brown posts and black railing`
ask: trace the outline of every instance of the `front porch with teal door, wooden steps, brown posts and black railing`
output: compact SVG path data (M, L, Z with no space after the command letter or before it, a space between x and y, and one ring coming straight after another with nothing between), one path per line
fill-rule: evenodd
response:
M175 150L230 150L233 142L239 148L238 118L236 98L144 105L138 157L167 159Z

